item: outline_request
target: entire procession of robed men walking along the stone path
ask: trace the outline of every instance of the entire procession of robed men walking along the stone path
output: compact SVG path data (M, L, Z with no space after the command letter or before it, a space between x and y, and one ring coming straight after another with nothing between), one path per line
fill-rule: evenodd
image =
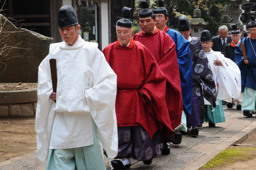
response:
M225 122L222 101L255 114L254 17L244 39L235 26L231 35L220 26L216 37L192 37L187 16L177 30L166 26L163 0L140 7L142 31L134 34L133 11L123 7L117 41L102 52L78 34L73 7L60 8L64 41L50 45L38 71L37 157L46 170L106 170L103 154L114 170L129 169L130 159L150 165L183 135L199 136L203 122Z

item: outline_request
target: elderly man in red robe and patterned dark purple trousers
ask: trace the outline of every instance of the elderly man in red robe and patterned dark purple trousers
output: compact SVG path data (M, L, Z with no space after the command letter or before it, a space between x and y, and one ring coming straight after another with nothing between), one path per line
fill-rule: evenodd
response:
M160 131L172 136L174 130L165 103L166 79L152 54L134 34L129 18L130 8L124 7L123 19L117 22L116 42L103 53L117 74L116 115L119 148L111 165L114 169L130 168L129 158L151 164L160 152Z

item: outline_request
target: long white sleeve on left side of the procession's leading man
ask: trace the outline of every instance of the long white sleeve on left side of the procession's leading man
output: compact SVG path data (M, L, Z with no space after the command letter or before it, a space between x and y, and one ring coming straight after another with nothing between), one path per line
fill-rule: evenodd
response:
M49 99L53 92L48 56L38 68L37 112L35 130L37 132L37 158L44 161L49 151L49 138L55 112L55 103Z

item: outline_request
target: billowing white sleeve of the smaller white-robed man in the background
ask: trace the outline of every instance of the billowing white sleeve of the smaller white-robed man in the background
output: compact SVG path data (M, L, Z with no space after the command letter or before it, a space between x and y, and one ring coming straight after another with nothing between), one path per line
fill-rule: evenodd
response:
M241 94L241 73L237 64L223 55L219 57L223 66L219 66L219 93L218 99L238 99Z

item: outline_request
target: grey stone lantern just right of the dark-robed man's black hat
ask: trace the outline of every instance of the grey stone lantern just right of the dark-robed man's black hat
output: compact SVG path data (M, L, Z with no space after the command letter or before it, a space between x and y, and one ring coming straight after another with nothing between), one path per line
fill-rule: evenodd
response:
M190 26L192 29L191 35L193 37L198 37L201 36L201 32L203 31L203 27L207 26L209 23L205 22L202 18L201 18L201 10L196 7L193 10L193 17L190 20Z

